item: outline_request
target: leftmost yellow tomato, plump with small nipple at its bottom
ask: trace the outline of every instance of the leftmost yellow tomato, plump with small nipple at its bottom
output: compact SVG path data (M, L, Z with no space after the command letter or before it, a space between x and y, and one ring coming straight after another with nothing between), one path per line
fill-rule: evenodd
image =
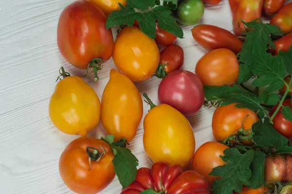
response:
M93 88L79 77L59 81L49 104L50 117L64 133L86 136L100 120L100 101Z

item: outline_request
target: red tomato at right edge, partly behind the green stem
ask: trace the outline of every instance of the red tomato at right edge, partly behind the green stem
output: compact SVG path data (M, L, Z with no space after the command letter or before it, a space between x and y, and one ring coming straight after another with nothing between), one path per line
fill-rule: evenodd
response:
M292 108L292 104L291 104L291 99L286 99L283 102L283 106L289 106L290 108ZM270 111L270 116L272 116L276 110L276 108L278 107L278 104L275 105L271 111ZM281 133L282 135L284 135L285 137L287 137L288 139L292 139L292 122L288 121L283 114L281 113L282 108L280 108L279 112L276 114L276 116L273 119L273 126L274 128Z

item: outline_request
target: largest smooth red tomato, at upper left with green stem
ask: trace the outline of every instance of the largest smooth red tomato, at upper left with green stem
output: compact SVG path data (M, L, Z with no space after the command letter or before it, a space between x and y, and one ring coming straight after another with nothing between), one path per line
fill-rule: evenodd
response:
M101 9L85 0L68 5L59 18L57 42L62 56L79 69L86 69L92 59L110 59L113 50L111 29Z

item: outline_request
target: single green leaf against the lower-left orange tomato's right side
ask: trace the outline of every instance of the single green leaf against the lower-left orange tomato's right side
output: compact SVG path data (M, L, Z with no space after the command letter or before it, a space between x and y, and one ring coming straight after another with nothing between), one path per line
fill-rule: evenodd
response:
M114 171L119 178L121 185L125 188L136 178L138 159L128 148L114 147L114 149L117 151L112 160Z

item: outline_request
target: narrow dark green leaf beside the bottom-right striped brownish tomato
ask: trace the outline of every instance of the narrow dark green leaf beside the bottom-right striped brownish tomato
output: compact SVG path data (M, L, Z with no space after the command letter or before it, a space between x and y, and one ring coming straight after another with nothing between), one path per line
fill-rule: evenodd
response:
M266 154L260 151L255 152L255 157L251 163L252 177L250 178L251 184L249 188L257 189L265 185L264 168L265 168Z

